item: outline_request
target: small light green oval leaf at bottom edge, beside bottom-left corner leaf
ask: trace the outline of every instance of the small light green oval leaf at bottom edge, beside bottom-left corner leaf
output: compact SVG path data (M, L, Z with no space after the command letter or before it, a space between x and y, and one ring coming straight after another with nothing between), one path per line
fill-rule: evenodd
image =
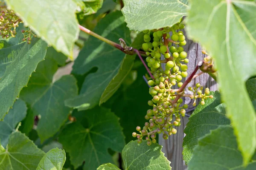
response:
M38 164L36 170L62 170L66 161L64 150L55 148L49 150Z

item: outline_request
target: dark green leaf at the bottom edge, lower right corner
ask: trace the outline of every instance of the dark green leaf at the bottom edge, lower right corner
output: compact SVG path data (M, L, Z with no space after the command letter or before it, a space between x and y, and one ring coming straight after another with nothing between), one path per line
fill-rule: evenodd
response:
M220 126L199 139L189 170L255 170L256 160L243 166L241 152L231 126Z

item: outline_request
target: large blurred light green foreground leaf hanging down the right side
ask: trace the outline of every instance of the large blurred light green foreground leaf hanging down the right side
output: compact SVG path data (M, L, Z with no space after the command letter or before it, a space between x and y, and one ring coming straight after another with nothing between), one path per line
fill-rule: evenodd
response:
M256 148L256 113L245 87L246 80L256 74L256 3L191 0L189 4L189 37L215 58L219 89L245 165Z

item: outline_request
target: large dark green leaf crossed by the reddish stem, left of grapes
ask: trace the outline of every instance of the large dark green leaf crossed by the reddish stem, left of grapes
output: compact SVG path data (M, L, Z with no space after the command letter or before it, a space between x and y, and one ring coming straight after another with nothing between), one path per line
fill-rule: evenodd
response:
M104 17L94 32L117 43L119 38L124 39L128 45L131 42L130 31L120 11ZM94 67L98 70L85 77L79 96L66 100L65 104L79 111L98 105L105 88L118 73L124 57L122 51L90 36L73 65L72 73L83 75Z

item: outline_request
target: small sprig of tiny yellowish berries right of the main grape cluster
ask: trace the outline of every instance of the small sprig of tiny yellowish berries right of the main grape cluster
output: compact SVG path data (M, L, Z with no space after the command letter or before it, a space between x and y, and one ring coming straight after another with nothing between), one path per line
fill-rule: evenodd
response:
M193 94L189 96L190 99L195 99L193 102L193 106L196 105L196 99L201 99L201 102L200 102L201 105L205 104L204 100L208 98L213 99L213 96L209 95L210 94L209 88L206 88L204 90L204 94L202 93L203 86L201 86L199 83L197 83L194 88L189 87L188 90L193 92Z

